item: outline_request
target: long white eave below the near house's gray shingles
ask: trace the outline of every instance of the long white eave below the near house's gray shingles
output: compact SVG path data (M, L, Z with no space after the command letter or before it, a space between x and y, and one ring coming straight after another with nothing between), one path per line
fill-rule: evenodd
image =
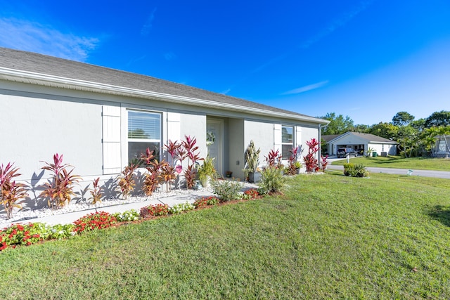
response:
M153 100L164 100L166 102L181 103L186 105L195 105L198 107L214 107L225 110L247 112L252 115L264 115L270 117L283 117L295 119L302 122L312 122L316 124L328 124L325 119L314 117L300 116L285 112L274 112L270 110L262 110L255 107L245 107L242 105L231 105L227 103L218 103L211 100L191 98L185 96L176 96L167 93L158 93L154 91L146 91L141 89L131 89L124 86L115 86L111 84L101 84L93 81L84 81L79 79L71 79L58 77L49 74L41 74L36 72L27 72L22 70L14 70L10 68L0 67L0 78L8 81L18 81L23 83L32 83L42 86L52 86L62 89L75 89L82 91L91 91L96 93L108 93L118 96L130 96L136 98L146 98Z

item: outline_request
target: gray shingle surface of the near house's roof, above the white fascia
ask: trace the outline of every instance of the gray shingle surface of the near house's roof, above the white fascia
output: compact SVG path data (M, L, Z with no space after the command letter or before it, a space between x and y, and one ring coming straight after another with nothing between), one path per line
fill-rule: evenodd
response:
M302 115L297 112L282 110L277 107L271 107L269 105L263 105L240 98L234 98L221 93L213 93L211 91L197 89L192 86L177 84L172 81L162 80L141 74L134 74L131 72L114 70L97 65L79 63L76 61L55 58L52 56L44 56L38 53L13 50L10 48L0 47L0 67L51 75L55 77L90 81L98 84L120 86L133 90L152 91L173 96L209 100L215 103L224 103L227 105L246 107L249 110L258 109L264 110L268 113L280 112L283 114L293 115L294 117L305 117L307 119L311 118L311 122L321 124L326 123L326 121L323 119L316 119L314 117Z

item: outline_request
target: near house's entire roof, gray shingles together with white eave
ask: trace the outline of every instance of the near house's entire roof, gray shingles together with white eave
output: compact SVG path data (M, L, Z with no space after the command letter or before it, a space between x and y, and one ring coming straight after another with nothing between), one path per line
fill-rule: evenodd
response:
M184 84L38 53L0 47L0 79L163 100L328 124L325 119L197 89Z

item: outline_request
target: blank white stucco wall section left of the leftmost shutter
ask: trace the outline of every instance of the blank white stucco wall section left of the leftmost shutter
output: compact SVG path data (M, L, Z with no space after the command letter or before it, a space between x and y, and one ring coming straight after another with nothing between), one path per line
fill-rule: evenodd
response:
M53 162L55 153L75 167L75 174L101 174L101 105L0 95L0 107L1 163L15 162L22 174L18 179L35 178L41 161ZM50 176L46 173L43 178Z

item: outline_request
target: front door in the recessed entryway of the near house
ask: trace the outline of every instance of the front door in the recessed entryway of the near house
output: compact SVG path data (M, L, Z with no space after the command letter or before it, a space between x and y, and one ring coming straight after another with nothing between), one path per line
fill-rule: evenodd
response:
M210 157L214 157L214 168L217 173L223 175L223 143L224 143L224 120L207 119L207 148Z

